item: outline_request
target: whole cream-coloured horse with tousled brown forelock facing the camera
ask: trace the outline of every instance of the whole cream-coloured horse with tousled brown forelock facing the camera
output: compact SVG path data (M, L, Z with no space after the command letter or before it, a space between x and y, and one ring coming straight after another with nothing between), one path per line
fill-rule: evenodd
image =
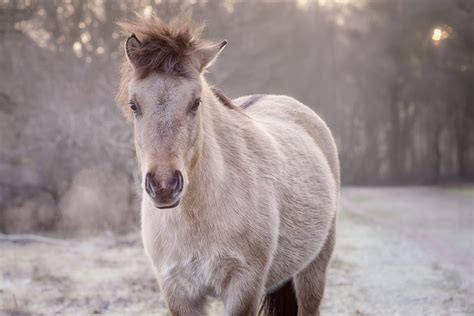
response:
M119 23L144 251L172 315L319 315L335 244L334 139L283 95L231 100L205 73L227 41L190 19Z

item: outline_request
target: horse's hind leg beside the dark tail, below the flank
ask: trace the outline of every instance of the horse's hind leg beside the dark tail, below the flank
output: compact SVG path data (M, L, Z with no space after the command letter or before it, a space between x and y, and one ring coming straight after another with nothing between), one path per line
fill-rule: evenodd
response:
M334 220L316 259L294 277L298 316L319 315L326 282L326 268L334 249L335 233Z

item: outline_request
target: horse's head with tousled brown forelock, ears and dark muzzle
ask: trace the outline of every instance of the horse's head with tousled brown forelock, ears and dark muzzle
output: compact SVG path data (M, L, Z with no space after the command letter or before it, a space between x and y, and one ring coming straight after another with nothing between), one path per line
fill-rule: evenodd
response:
M155 17L122 26L132 35L119 101L133 121L143 190L156 207L173 208L202 137L202 72L226 42L204 42L189 24Z

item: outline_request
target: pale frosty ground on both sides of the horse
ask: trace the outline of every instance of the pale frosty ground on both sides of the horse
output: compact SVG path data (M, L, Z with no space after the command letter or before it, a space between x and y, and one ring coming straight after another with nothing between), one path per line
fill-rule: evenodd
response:
M474 315L473 229L472 186L345 188L322 315ZM168 315L138 233L0 237L1 315Z

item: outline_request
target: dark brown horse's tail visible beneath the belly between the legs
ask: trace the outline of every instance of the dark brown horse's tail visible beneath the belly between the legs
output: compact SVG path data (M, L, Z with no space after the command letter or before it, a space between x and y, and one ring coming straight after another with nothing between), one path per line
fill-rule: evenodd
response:
M259 312L259 315L265 316L296 316L297 314L298 302L292 279L265 295Z

